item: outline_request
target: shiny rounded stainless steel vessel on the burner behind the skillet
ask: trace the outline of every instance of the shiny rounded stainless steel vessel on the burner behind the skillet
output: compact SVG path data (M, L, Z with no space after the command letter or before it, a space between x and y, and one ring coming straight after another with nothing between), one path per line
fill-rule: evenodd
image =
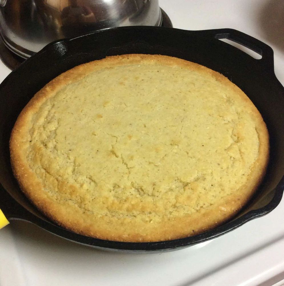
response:
M1 36L24 58L58 39L161 23L158 0L0 0Z

